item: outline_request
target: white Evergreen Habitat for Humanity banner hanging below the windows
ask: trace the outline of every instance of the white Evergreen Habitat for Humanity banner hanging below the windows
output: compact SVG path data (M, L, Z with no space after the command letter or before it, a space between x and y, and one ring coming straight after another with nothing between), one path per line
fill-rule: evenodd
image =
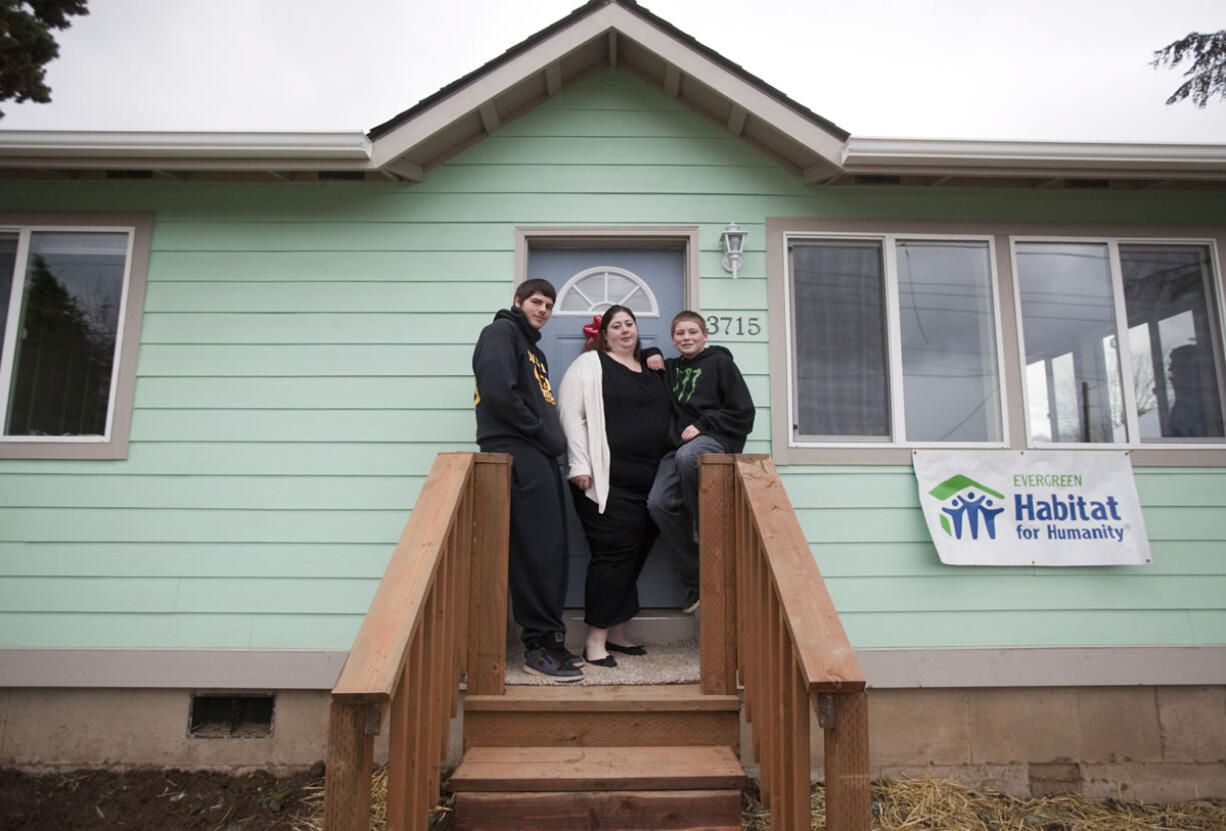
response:
M920 504L946 565L1144 565L1124 452L917 450Z

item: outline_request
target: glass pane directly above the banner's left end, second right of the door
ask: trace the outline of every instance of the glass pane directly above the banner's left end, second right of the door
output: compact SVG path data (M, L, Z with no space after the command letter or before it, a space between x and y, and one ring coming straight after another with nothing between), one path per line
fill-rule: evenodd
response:
M897 244L908 441L999 441L988 244Z

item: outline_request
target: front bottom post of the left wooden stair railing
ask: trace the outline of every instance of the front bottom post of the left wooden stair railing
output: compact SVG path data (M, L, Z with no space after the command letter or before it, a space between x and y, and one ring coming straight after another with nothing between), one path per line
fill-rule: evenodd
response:
M374 713L369 712L374 710ZM324 775L324 830L369 831L370 773L379 726L379 708L332 699L327 724L327 766Z

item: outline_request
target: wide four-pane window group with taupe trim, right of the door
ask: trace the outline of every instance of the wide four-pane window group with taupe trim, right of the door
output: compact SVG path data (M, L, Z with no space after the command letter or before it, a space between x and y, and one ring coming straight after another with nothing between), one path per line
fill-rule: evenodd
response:
M1124 447L1133 463L1226 465L1226 229L766 229L777 460Z

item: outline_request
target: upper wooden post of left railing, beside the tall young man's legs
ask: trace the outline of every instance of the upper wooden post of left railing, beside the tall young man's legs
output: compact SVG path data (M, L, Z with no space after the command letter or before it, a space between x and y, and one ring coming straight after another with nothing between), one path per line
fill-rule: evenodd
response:
M477 453L468 566L468 695L503 695L506 683L506 550L511 457Z

